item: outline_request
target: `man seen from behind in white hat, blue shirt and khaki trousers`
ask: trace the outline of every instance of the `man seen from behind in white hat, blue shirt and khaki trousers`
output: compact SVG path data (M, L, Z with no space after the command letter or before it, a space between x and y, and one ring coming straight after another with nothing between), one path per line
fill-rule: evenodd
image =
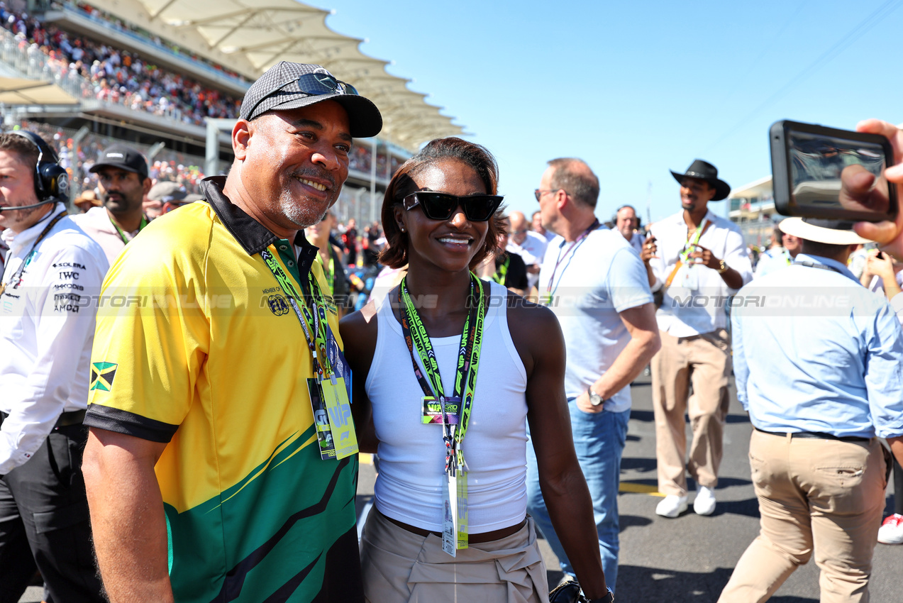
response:
M903 460L903 331L887 300L847 269L867 242L850 227L785 219L803 253L731 303L761 530L721 603L767 600L813 552L823 603L869 600L889 463L878 438Z

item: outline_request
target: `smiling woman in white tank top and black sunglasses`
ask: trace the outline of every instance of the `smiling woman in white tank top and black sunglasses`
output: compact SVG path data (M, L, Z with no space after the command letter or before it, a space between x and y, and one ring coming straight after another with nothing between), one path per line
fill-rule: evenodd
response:
M483 147L434 140L383 201L380 261L405 280L341 321L360 449L379 453L361 540L368 601L546 601L526 516L526 422L554 523L588 597L610 601L573 450L551 311L471 273L503 228Z

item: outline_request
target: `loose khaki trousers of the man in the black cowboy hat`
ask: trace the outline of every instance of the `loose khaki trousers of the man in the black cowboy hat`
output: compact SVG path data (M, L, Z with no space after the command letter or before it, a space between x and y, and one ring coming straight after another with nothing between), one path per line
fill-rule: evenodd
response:
M662 348L651 362L658 491L686 496L687 469L700 486L718 485L730 402L731 341L725 329L682 338L659 334ZM689 413L693 428L689 462L684 413Z

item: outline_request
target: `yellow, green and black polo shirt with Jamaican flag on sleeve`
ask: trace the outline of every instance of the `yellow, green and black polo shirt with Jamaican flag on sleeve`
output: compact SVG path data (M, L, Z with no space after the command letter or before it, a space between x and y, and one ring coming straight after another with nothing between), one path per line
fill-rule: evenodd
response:
M107 274L85 423L168 442L155 469L177 602L359 601L357 456L320 458L311 352L260 255L300 291L309 270L328 291L316 247L297 237L296 257L223 182L154 220Z

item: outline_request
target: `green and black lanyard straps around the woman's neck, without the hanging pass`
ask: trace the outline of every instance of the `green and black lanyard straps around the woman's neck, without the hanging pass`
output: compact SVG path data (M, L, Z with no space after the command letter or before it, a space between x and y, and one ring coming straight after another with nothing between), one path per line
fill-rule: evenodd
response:
M458 424L449 421L445 410L445 390L442 387L442 376L439 374L439 365L436 362L436 353L430 336L426 333L424 323L417 314L417 309L411 295L407 290L407 277L398 286L398 304L401 312L401 328L405 337L407 349L411 353L411 362L414 365L414 375L417 383L424 391L424 395L439 401L442 408L442 440L445 442L445 471L455 477L458 471L466 471L464 453L461 450L461 442L467 435L470 423L470 411L473 408L473 393L477 385L477 370L479 369L479 350L483 342L483 320L486 318L486 300L483 297L483 283L476 274L470 273L470 311L467 320L464 321L464 330L461 331L461 354L458 357L458 369L455 375L454 394L461 400L458 404ZM424 363L421 371L414 358L414 348ZM429 378L429 383L424 377ZM432 388L431 388L432 385Z

